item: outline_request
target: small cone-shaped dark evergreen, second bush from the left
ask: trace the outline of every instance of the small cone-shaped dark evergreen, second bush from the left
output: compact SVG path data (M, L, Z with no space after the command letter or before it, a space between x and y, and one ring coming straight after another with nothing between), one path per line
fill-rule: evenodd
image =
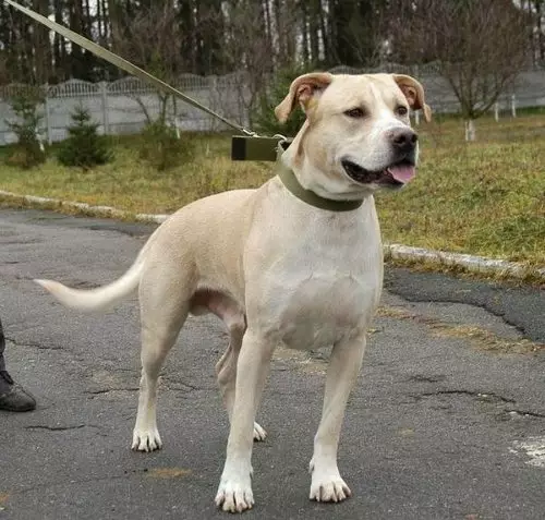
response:
M90 121L89 111L76 107L71 118L73 124L68 128L69 137L61 143L57 154L59 162L83 169L109 162L113 156L108 137L97 133L99 125Z

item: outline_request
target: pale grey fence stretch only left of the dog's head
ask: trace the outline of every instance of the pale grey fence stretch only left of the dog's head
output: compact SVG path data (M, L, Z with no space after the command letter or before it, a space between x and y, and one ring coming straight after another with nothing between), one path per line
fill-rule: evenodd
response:
M175 86L226 118L247 124L247 94L240 74L206 77L186 74ZM0 145L16 141L8 124L16 120L9 99L25 88L21 84L0 88ZM55 86L43 86L41 89L45 102L38 107L43 116L38 132L49 143L66 137L66 129L72 124L71 113L77 106L89 111L93 121L99 124L100 133L118 135L140 132L148 118L154 120L161 110L157 92L136 77L111 83L70 80ZM217 131L225 126L181 100L170 98L166 108L167 121L180 131Z

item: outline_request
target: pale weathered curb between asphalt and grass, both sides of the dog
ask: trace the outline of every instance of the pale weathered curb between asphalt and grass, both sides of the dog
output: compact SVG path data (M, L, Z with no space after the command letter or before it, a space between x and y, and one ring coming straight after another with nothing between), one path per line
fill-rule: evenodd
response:
M59 198L38 197L34 195L17 195L16 193L0 190L0 197L20 199L37 206L64 207L77 209L86 215L97 217L132 218L140 222L162 223L169 215L131 214L110 206L92 206L86 203L61 201ZM481 274L505 274L513 278L524 278L532 275L545 281L545 267L532 268L518 262L509 262L484 256L474 256L462 253L449 253L447 251L426 250L424 247L412 247L403 244L384 244L386 257L403 261L423 261L431 264L450 267L463 267L473 273Z

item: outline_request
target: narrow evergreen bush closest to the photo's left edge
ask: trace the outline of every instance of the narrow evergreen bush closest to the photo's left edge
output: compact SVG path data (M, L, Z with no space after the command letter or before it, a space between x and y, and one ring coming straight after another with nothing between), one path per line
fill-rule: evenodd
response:
M41 101L43 96L38 88L29 88L11 99L11 108L19 122L7 121L8 126L17 136L13 154L7 158L8 165L28 169L46 160L45 148L37 136L37 129L43 119L38 112L38 105Z

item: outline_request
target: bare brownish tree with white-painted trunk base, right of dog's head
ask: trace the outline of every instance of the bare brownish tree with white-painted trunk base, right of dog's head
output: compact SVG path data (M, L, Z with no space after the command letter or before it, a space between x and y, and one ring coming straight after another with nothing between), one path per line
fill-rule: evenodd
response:
M401 0L391 15L393 58L435 62L474 138L474 120L514 82L528 60L529 19L511 0Z

